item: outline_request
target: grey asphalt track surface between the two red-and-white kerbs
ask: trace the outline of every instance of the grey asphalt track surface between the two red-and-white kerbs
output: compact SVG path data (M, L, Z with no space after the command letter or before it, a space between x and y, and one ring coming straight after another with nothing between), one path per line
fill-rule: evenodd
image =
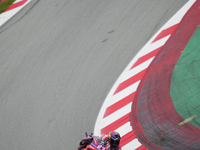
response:
M32 0L0 27L0 149L76 149L119 75L186 2Z

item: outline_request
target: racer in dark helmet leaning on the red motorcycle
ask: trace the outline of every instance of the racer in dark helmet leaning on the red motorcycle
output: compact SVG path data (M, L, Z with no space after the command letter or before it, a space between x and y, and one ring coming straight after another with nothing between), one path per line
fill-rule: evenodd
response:
M109 132L108 135L103 135L103 136L96 136L97 139L100 142L103 142L104 145L110 145L110 150L119 150L119 143L120 143L120 134L115 131ZM92 136L88 136L87 138L84 138L81 140L80 145L77 150L82 150L83 148L86 148L87 145L89 145L93 140Z

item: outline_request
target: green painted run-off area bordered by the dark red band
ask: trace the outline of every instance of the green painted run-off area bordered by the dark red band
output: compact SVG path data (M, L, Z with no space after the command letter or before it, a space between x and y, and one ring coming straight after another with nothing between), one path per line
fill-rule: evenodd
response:
M182 52L171 78L170 95L177 113L200 128L200 27Z

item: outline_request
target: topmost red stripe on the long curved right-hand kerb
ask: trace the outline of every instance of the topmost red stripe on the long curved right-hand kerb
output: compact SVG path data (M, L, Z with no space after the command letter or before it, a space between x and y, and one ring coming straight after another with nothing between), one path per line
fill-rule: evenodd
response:
M171 27L169 27L169 28L167 28L165 30L162 30L162 32L160 32L160 34L154 39L153 42L158 41L158 40L164 38L165 36L168 36L168 35L172 34L174 32L174 30L176 30L178 25L179 25L179 23L175 24L175 25L173 25L173 26L171 26Z

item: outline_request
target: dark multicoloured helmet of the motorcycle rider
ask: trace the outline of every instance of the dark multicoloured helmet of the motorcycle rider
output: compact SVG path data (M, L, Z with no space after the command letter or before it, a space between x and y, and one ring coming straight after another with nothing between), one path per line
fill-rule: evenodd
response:
M118 147L121 137L118 132L111 131L108 134L108 139L110 142L110 146L115 148Z

